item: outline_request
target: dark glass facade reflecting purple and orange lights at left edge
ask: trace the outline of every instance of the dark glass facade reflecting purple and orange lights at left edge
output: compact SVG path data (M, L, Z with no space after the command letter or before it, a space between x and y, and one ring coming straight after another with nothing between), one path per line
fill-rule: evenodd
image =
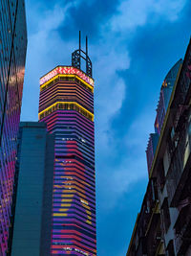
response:
M8 252L27 48L25 3L0 1L0 255Z

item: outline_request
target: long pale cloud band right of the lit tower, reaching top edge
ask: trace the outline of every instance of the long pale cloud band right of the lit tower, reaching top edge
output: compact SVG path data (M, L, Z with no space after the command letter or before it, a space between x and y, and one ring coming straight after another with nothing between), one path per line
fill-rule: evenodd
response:
M96 70L99 72L96 75L100 77L100 83L97 84L97 93L100 95L96 101L96 128L98 129L96 147L100 157L99 170L97 170L99 195L101 195L100 207L104 210L115 207L117 200L128 192L130 185L147 176L145 149L155 120L153 107L145 112L142 110L142 114L128 129L127 135L121 139L123 151L127 152L126 157L121 161L118 157L117 164L114 166L109 162L105 163L104 155L108 161L108 155L112 159L112 157L117 158L119 153L117 142L115 138L111 138L109 129L112 117L117 114L126 97L124 81L117 76L118 69L128 69L131 64L128 49L125 48L124 43L128 38L126 31L135 32L138 26L144 26L146 22L150 22L147 20L150 13L163 16L173 22L178 18L185 2L185 0L122 1L117 14L101 27L101 35L107 48L103 46L100 49L102 44L98 44L100 60L95 61ZM104 51L106 51L105 54Z

